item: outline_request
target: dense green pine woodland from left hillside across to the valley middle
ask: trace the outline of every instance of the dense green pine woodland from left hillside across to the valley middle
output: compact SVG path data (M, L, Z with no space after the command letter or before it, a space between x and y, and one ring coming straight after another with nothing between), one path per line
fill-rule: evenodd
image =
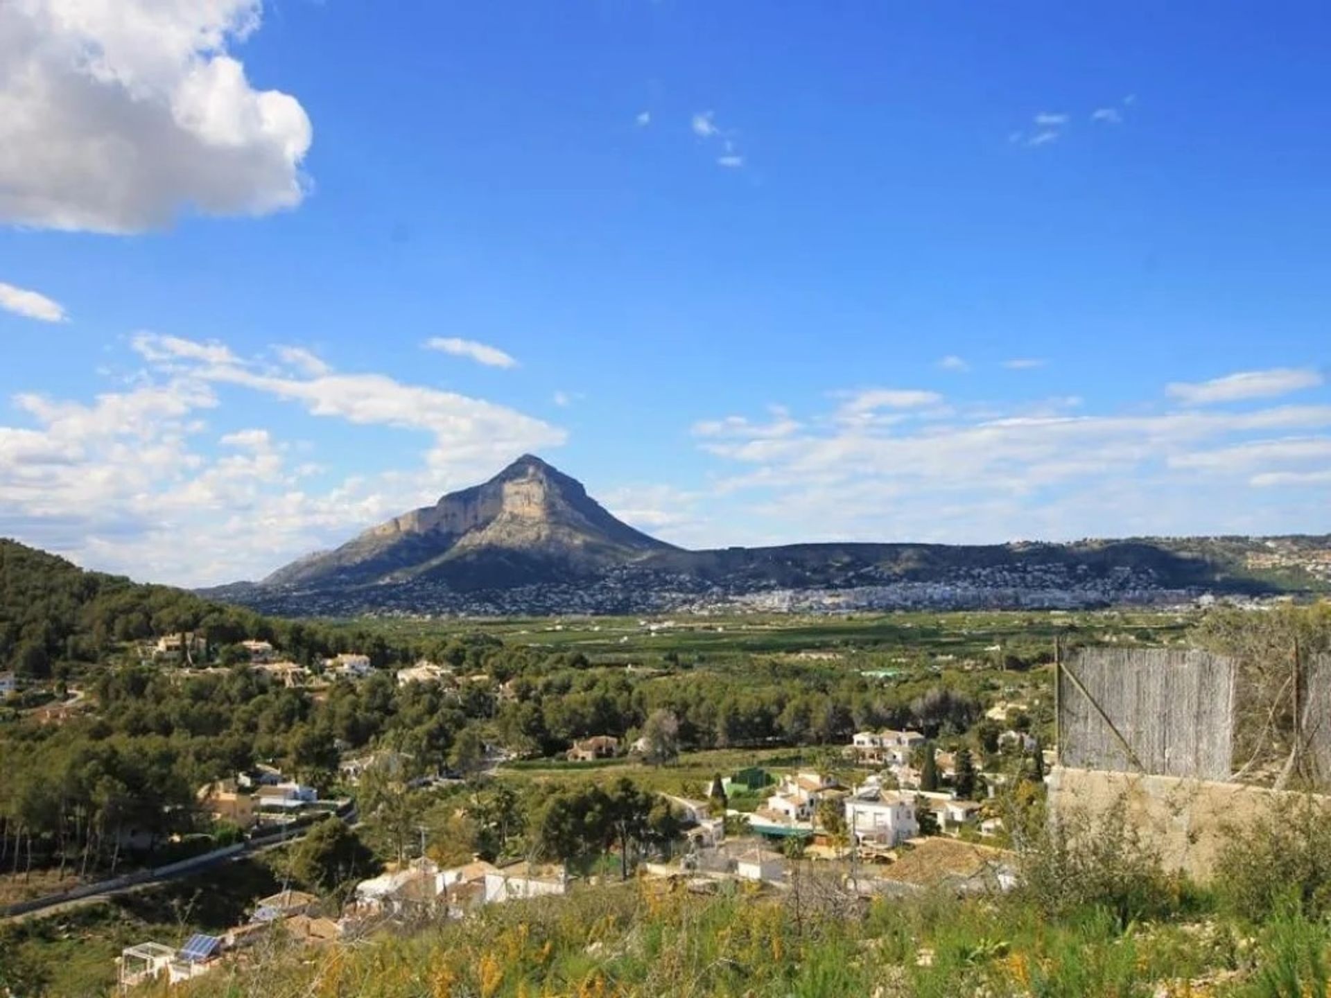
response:
M198 675L140 661L136 641L180 631L204 635L222 661L236 641L261 637L307 663L366 652L379 671L315 695L240 663ZM342 756L371 748L391 749L409 774L466 776L486 745L548 756L591 735L635 737L654 715L669 719L672 743L685 749L844 744L858 728L885 725L958 736L981 716L973 688L936 679L884 685L767 659L631 672L482 635L389 644L83 572L12 543L0 543L0 635L20 675L77 683L92 704L63 724L12 709L0 723L0 864L13 870L113 869L130 833L141 844L210 830L197 788L261 761L329 789ZM418 656L469 679L399 687L393 667Z

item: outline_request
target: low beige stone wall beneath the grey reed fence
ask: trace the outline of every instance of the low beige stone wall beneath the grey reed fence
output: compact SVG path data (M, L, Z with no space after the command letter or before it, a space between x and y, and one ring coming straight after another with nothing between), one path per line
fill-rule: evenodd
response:
M1098 818L1122 804L1125 818L1159 850L1165 868L1199 881L1211 877L1229 829L1251 826L1287 796L1262 786L1178 776L1071 766L1054 766L1049 774L1053 814Z

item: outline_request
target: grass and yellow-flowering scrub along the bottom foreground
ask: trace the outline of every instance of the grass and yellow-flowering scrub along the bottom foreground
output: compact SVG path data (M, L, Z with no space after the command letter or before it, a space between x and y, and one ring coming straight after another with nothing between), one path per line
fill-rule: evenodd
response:
M1252 929L1205 912L1123 925L1050 921L1021 900L877 900L848 910L809 885L780 900L628 884L494 906L479 918L339 949L273 951L193 998L973 998L1326 995L1324 922ZM820 900L821 898L821 900Z

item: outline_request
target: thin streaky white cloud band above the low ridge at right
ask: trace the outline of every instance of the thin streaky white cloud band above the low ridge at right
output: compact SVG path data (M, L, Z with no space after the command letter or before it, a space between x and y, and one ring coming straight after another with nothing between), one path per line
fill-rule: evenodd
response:
M892 422L845 419L839 409L781 434L729 416L703 423L699 446L732 468L717 479L713 506L728 504L729 519L749 535L785 542L1326 528L1314 511L1328 508L1327 495L1312 490L1326 484L1331 463L1331 405L1020 414L1030 409ZM1202 475L1227 486L1206 484L1205 503ZM1291 488L1264 488L1276 483ZM715 531L708 540L727 543Z

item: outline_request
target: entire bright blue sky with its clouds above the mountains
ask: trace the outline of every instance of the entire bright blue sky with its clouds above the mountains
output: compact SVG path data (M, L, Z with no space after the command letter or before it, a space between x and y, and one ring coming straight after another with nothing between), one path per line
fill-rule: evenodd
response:
M9 5L0 534L257 578L528 450L687 546L1324 532L1328 43L1311 3Z

